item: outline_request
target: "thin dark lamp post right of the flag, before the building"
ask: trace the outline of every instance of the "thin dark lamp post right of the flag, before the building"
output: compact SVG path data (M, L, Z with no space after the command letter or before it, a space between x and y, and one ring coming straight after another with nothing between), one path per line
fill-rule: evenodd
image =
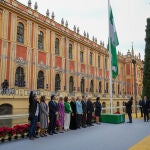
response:
M136 60L135 60L135 59L132 59L132 63L133 63L133 66L134 66L134 98L135 98L135 114L136 114L136 118L137 118Z

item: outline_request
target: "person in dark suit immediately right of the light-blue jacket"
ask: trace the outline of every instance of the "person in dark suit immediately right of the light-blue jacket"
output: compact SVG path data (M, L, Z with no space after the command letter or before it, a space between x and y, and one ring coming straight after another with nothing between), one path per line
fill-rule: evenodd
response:
M83 110L83 114L82 114L82 127L85 128L86 127L86 114L87 114L87 102L86 102L86 96L82 96L82 110Z

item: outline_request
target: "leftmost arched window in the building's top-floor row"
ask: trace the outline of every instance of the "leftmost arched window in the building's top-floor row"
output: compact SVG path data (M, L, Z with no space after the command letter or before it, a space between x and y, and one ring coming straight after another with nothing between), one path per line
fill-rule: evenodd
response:
M17 25L17 42L24 43L24 25L21 22Z

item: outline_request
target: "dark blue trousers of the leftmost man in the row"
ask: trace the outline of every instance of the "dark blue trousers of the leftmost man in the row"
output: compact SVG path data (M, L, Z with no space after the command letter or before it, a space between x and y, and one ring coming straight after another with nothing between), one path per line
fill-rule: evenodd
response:
M30 122L30 128L29 128L29 137L34 137L36 136L36 125L38 122L38 116L34 116L34 118Z

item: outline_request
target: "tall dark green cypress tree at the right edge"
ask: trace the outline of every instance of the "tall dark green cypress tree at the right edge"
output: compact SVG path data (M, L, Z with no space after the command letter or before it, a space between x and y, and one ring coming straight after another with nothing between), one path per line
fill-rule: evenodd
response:
M143 96L150 99L150 18L147 18L146 38L145 38L145 58L143 74Z

